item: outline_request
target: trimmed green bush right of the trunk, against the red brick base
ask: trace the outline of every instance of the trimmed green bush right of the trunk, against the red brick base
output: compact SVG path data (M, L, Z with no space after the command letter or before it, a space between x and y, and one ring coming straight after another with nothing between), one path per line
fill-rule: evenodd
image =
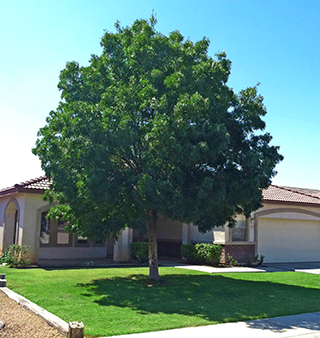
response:
M222 255L222 246L209 243L182 244L181 255L188 263L208 264L217 266Z

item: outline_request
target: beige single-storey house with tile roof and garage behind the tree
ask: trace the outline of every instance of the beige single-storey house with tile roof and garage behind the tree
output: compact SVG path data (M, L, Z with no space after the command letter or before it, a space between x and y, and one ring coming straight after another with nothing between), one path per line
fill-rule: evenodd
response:
M47 220L50 205L43 201L50 183L36 178L0 190L0 252L11 244L28 245L30 260L94 259L113 257L115 262L130 259L134 241L146 240L144 234L125 229L117 242L91 242L64 231L65 224ZM182 243L216 243L240 262L256 254L265 262L320 261L320 190L271 185L263 191L263 207L249 218L238 216L237 224L214 228L205 234L196 226L158 221L159 256L179 256Z

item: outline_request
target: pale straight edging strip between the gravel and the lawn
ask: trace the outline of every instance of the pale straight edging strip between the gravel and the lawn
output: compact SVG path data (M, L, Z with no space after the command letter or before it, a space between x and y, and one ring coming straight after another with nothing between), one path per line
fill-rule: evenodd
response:
M30 300L20 296L19 294L10 290L7 287L1 287L0 291L2 291L9 298L14 300L16 303L18 303L25 309L31 311L36 316L43 318L50 326L53 326L54 328L56 328L63 335L65 336L68 335L69 324L66 323L64 320L62 320L61 318L41 308L39 305L31 302Z

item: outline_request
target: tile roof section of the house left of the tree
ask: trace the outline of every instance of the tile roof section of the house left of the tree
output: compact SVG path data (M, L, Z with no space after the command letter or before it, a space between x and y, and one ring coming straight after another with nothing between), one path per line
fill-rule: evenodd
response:
M30 181L15 184L12 187L0 189L0 197L18 192L43 194L45 190L49 189L50 184L46 176L41 176Z

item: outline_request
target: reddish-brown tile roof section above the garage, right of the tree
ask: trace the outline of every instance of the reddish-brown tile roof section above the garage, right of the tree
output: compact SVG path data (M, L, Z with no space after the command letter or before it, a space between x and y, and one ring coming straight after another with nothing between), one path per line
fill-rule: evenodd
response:
M270 185L262 192L264 202L290 202L320 205L320 190Z

